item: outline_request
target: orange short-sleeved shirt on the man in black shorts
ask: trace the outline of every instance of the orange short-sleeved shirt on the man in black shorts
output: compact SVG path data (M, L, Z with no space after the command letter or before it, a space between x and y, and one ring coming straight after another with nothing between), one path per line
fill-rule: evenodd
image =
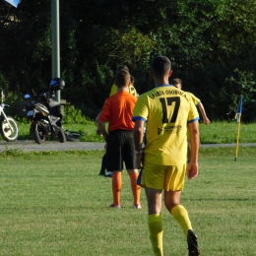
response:
M108 121L108 132L115 130L133 130L133 109L136 96L128 92L119 92L105 99L102 111L98 117L101 122Z

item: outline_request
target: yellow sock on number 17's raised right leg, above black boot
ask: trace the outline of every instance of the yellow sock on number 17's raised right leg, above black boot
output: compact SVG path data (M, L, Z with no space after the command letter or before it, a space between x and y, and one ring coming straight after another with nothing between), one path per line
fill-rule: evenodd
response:
M177 205L171 209L170 213L187 236L188 229L192 229L187 210L182 205Z

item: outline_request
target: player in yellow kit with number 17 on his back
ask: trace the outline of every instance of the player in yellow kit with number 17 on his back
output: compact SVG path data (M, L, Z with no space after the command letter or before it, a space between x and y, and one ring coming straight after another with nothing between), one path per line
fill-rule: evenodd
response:
M164 205L187 238L189 256L197 256L200 253L197 236L187 210L180 204L180 196L185 173L188 179L198 174L199 114L191 96L168 84L172 73L170 67L170 61L165 56L158 56L152 61L155 89L141 95L134 108L135 153L138 168L142 169L137 183L145 187L154 254L163 255L160 213L164 191ZM146 121L147 145L143 149ZM186 168L187 127L191 134L191 158Z

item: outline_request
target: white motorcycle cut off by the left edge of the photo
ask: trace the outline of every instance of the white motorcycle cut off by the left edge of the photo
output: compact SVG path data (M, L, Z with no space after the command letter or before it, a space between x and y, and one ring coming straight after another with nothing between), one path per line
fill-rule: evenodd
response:
M5 114L4 108L8 106L5 103L0 104L0 132L5 141L14 142L19 136L19 127L12 116Z

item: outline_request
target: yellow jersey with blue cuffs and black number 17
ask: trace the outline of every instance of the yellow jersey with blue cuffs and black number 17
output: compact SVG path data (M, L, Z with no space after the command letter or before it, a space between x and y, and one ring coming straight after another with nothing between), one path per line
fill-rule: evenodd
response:
M188 93L170 85L157 87L138 98L132 119L147 121L145 160L160 165L186 162L187 123L199 119Z

